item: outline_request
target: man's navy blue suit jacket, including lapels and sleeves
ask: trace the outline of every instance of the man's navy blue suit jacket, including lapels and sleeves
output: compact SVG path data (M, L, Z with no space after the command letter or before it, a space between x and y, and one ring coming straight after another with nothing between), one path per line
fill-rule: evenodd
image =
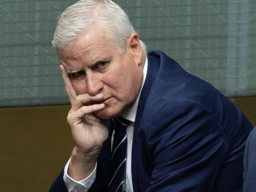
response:
M134 192L242 192L243 153L252 125L209 83L162 52L148 52L135 118ZM89 191L108 191L109 138ZM65 191L63 172L50 191Z

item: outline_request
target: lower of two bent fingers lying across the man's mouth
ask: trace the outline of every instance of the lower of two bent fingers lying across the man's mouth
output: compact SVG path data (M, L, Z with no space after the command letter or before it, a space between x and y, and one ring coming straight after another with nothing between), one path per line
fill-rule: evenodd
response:
M94 113L100 109L103 109L105 107L104 103L100 104L94 104L94 105L88 105L80 107L78 110L73 111L72 113L69 113L68 115L68 121L73 120L74 118L83 118L87 114Z

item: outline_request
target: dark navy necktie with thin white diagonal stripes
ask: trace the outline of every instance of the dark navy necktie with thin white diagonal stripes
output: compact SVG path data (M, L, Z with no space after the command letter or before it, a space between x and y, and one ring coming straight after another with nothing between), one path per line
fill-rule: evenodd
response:
M126 128L129 120L122 117L113 118L114 125L114 140L110 162L110 182L109 192L124 192L126 191L125 169L126 169L126 154L127 154L127 135Z

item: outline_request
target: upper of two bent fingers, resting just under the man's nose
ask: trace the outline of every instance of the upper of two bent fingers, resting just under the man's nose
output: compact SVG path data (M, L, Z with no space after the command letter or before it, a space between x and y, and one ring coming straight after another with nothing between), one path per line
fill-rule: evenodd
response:
M103 94L99 93L95 96L90 96L89 94L81 94L76 97L74 102L72 103L72 107L70 109L70 113L78 110L83 105L92 106L93 102L101 101L103 99Z

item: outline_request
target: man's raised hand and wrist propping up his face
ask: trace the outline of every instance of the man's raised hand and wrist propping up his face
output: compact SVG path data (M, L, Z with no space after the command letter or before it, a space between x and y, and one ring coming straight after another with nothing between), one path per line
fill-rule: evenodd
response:
M73 176L73 179L81 180L87 175L84 172L88 172L89 175L90 171L93 170L102 144L108 138L108 128L105 120L93 114L105 107L104 103L92 104L92 102L102 100L103 94L100 93L95 96L81 94L77 96L69 75L62 65L60 65L60 68L71 103L67 121L76 143L69 165L69 172L72 174L69 173L69 175L70 177L76 175ZM79 174L79 172L81 173Z

